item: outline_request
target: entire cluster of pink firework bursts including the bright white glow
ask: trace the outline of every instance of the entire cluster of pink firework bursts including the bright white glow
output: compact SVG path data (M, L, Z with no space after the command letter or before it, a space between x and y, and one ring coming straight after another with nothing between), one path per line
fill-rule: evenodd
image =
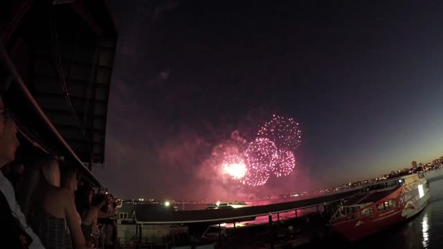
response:
M236 146L222 148L221 172L239 183L238 187L264 185L271 175L287 176L296 167L294 154L301 143L301 131L292 118L274 115L247 146L239 131L233 131L230 138Z

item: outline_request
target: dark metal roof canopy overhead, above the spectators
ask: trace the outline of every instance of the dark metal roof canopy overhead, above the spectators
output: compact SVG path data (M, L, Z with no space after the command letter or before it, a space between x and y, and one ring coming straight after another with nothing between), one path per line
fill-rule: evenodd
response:
M62 144L64 149L48 151L67 153L82 168L87 163L86 175L100 186L90 169L105 160L107 105L117 41L106 1L6 3L10 8L0 10L0 38L5 48L1 53L10 66L8 73L19 84L12 84L8 95L19 96L10 102L15 103L12 108L20 131L42 141L42 147ZM22 104L23 96L30 105ZM35 123L39 119L42 124Z

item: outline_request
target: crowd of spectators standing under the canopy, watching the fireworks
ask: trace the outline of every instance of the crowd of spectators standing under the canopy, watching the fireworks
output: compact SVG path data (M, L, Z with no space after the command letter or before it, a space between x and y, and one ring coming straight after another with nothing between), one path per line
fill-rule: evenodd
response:
M0 239L8 248L116 248L114 196L79 183L74 165L35 147L19 151L0 98Z

